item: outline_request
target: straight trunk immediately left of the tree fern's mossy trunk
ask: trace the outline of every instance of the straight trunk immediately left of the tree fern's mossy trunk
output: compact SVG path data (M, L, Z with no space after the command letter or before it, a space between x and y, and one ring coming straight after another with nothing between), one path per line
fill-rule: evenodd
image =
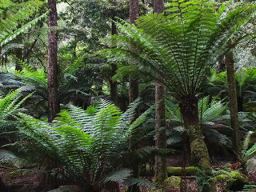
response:
M164 10L163 0L154 0L154 13L162 14ZM166 148L166 86L158 81L160 74L155 82L155 146L157 148ZM155 157L154 178L156 182L162 183L167 178L166 158Z

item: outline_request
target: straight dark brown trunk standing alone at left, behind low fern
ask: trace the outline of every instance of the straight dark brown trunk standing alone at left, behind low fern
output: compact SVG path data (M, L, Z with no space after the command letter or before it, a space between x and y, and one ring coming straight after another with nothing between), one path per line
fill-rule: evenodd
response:
M60 110L58 101L58 32L56 0L48 0L48 121L52 122Z

